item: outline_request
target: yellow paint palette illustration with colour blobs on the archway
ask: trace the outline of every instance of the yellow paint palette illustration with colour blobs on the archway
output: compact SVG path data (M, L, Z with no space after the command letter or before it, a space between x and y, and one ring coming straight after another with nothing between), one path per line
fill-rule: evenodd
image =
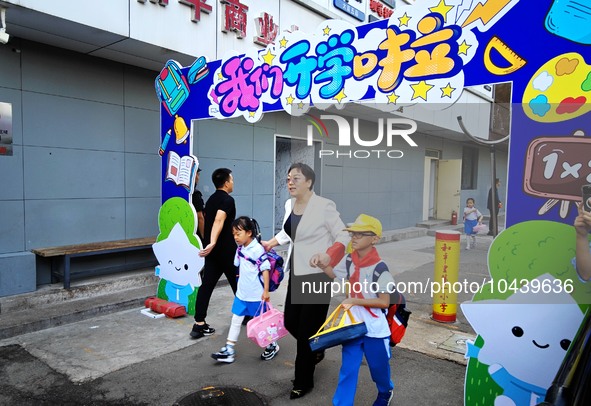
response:
M523 93L525 114L535 121L556 123L591 110L591 65L575 52L546 62Z

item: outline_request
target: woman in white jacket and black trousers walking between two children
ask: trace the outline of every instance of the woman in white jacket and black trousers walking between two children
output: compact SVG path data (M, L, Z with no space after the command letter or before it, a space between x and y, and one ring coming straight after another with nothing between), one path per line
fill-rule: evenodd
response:
M319 256L315 254L326 252L334 266L344 256L349 241L334 202L312 191L315 179L308 165L291 165L287 175L291 199L285 203L283 228L271 240L263 241L267 250L290 243L285 327L297 340L291 399L304 396L314 387L314 370L324 355L313 353L308 343L324 323L330 303L331 280L316 266Z

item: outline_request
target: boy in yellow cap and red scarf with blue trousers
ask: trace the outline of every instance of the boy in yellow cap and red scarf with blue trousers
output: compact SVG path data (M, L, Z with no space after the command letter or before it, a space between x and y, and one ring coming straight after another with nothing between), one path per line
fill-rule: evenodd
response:
M345 309L367 326L365 337L343 344L339 383L333 396L335 406L353 405L357 378L363 356L378 389L374 406L386 406L392 399L394 384L390 378L390 328L383 309L390 305L389 292L394 289L394 278L380 258L374 245L382 237L382 223L375 217L360 214L345 229L351 236L352 252L335 267L317 265L332 278L348 281L349 297L342 302Z

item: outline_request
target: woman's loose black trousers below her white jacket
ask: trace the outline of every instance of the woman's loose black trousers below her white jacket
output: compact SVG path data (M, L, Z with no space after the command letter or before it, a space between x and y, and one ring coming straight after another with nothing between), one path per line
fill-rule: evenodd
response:
M324 274L322 275L325 276ZM295 281L294 281L295 279ZM287 331L297 340L295 360L295 380L293 386L298 389L314 386L316 353L310 349L308 339L318 332L326 320L329 302L323 304L294 304L291 301L292 284L298 278L290 274L287 296L285 298L284 323ZM330 301L330 295L328 296Z

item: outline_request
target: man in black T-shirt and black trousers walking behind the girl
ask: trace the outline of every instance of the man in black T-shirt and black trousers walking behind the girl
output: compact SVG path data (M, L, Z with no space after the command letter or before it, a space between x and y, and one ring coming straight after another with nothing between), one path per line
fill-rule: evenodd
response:
M201 338L215 332L205 322L209 300L215 285L222 274L226 275L230 287L236 294L236 267L234 255L236 242L232 235L232 222L236 218L236 205L230 193L234 190L232 171L227 168L216 169L211 175L216 191L205 203L205 227L203 248L199 255L205 257L203 278L195 303L195 324L191 330L192 338Z

